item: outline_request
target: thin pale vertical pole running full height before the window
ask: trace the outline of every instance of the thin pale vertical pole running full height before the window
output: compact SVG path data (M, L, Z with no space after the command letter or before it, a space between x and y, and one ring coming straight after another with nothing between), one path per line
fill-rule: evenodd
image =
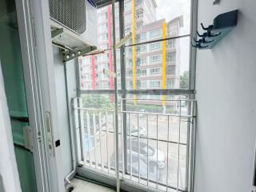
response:
M117 75L117 52L115 50L115 0L112 0L112 25L113 25L113 55L114 55L114 112L115 112L115 131L114 131L114 146L115 146L115 174L117 178L117 192L120 191L119 181L119 157L118 157L118 75Z

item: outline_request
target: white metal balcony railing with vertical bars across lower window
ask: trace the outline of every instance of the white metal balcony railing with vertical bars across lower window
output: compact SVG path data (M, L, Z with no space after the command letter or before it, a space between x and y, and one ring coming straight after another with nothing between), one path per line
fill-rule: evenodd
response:
M138 99L136 105L140 101L143 105L156 102ZM190 191L194 100L166 100L165 105L173 110L162 113L130 108L134 99L126 99L126 110L120 105L118 111L119 149L114 149L114 110L86 107L83 98L73 102L78 159L85 167L115 174L114 153L118 150L121 179L162 191Z

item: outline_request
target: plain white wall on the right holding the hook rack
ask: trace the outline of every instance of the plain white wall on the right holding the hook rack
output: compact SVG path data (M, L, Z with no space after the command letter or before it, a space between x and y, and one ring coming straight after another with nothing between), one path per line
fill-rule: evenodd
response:
M256 1L213 2L198 1L198 23L210 25L229 10L240 13L226 38L211 50L198 50L194 191L249 192L256 136Z

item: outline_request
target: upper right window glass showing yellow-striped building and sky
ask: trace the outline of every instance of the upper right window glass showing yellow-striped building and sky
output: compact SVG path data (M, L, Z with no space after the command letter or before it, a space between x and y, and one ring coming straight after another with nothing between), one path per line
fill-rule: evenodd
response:
M126 45L190 34L190 1L125 0L125 33L130 32ZM126 46L126 89L187 89L189 40Z

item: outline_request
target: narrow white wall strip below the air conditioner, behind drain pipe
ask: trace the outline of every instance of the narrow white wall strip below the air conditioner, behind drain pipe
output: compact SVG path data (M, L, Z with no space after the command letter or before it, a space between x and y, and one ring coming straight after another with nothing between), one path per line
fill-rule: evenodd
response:
M62 59L60 58L59 49L53 46L54 50L54 74L57 94L57 106L58 106L58 122L59 122L59 134L62 150L62 165L63 173L66 176L72 170L71 148L70 148L70 124L68 120L68 108L67 103L70 104L71 98L76 97L76 78L75 78L75 61L67 63L67 79L68 79L68 95L66 98L66 82L65 82L65 70ZM67 102L68 101L68 102Z

